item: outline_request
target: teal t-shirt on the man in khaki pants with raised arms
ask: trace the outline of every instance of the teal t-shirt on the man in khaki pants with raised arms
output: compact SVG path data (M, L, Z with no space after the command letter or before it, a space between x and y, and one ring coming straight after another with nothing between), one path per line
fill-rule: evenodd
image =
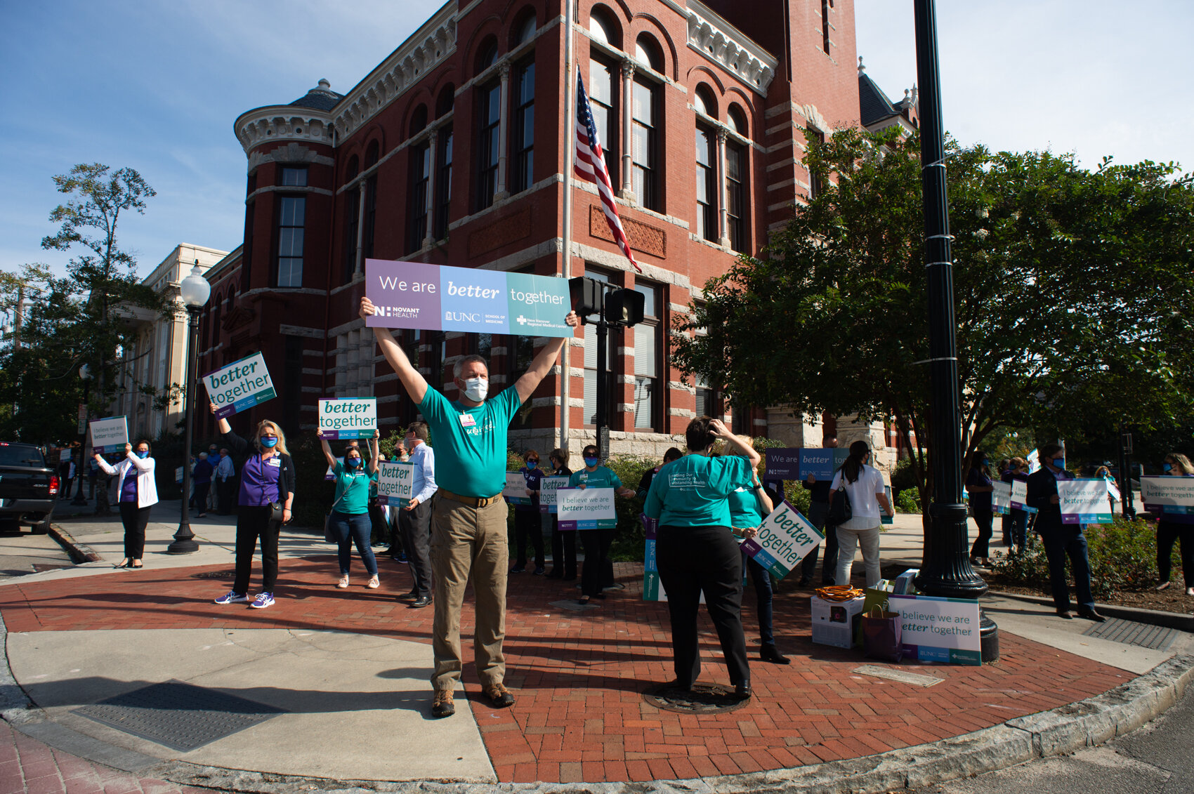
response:
M436 484L462 497L488 499L506 486L506 431L522 405L510 386L475 408L427 388L419 412L436 442Z

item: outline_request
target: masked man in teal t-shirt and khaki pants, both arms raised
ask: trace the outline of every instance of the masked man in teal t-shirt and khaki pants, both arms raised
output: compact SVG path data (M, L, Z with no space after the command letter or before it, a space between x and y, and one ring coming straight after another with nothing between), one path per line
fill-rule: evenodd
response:
M469 276L481 272L485 271L467 271ZM559 281L567 288L566 281ZM419 285L418 291L421 293L430 282L419 282ZM454 283L454 287L460 289L461 284ZM474 288L475 284L467 289ZM407 290L412 295L417 291L410 283ZM555 316L565 308L567 304L559 307ZM371 300L361 300L361 316L374 327L386 361L430 425L442 463L436 470L439 490L436 492L431 534L431 568L435 573L431 640L435 671L431 684L436 690L431 714L448 716L456 713L453 696L462 667L460 613L470 576L476 597L473 646L478 678L492 706L512 706L515 697L503 684L506 660L501 653L510 548L506 541L506 503L501 499L501 488L506 482L506 430L518 408L530 399L555 364L564 347L564 336L548 340L531 359L527 373L513 386L488 400L490 370L485 359L464 356L453 367L460 398L448 400L427 386L426 378L407 358L389 328L377 321L377 314ZM571 336L571 328L580 325L580 318L574 312L567 312L564 322L570 327ZM479 331L481 326L469 330Z

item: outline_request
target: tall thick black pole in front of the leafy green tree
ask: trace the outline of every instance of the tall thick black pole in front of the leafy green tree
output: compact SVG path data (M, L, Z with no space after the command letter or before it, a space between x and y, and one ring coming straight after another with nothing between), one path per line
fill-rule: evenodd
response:
M924 196L925 270L929 283L929 373L933 441L933 503L924 562L916 586L929 596L978 599L986 583L971 567L962 504L961 412L958 404L958 340L954 319L953 257L946 195L946 147L937 73L934 0L915 0L916 73L921 84L921 184ZM999 629L980 613L984 661L999 658Z

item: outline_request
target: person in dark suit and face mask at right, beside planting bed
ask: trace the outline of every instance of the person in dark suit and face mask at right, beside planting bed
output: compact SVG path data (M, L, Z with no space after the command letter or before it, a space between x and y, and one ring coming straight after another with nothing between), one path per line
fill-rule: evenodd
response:
M1036 507L1036 531L1045 543L1048 558L1048 579L1053 590L1053 605L1059 617L1072 618L1070 614L1070 585L1065 579L1065 558L1070 558L1073 584L1078 597L1078 615L1102 623L1106 620L1095 611L1095 597L1090 592L1090 559L1087 554L1087 536L1082 524L1061 523L1061 500L1058 498L1059 480L1072 480L1065 470L1065 448L1046 444L1040 450L1041 468L1028 476L1028 496L1024 501Z

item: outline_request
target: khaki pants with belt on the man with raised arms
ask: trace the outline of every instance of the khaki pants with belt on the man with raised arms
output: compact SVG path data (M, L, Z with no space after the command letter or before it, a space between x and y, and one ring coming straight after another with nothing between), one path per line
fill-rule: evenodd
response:
M469 574L476 597L473 651L481 687L499 684L506 675L501 640L506 635L506 501L469 507L435 497L431 517L431 572L435 581L435 621L431 685L453 689L460 681L460 610Z

